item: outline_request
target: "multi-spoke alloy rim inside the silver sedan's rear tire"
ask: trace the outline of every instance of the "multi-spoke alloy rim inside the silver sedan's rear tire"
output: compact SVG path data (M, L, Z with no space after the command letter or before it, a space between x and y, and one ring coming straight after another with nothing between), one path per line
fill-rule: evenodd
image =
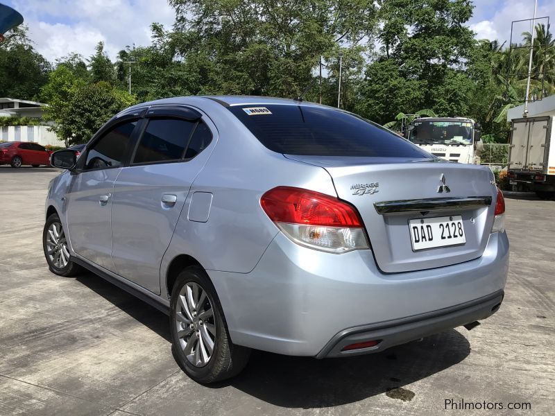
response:
M189 363L204 367L216 347L212 303L202 286L189 281L179 292L175 323L180 347Z

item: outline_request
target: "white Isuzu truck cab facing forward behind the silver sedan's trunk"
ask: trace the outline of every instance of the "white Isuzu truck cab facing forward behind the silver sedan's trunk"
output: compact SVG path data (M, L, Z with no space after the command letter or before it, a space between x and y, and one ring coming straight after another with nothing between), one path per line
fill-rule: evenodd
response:
M479 164L484 147L479 124L466 117L422 117L405 137L434 156L464 164Z

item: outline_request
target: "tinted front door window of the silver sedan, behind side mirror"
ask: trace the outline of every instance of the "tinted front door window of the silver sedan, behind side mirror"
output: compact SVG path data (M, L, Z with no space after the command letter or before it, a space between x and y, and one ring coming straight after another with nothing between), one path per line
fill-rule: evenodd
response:
M121 166L137 121L122 123L97 140L87 153L83 170L116 168Z

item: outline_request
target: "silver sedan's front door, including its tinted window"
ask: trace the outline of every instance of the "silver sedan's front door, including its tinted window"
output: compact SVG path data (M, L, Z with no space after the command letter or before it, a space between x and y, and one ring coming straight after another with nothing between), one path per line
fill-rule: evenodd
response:
M71 247L98 266L114 270L110 227L114 181L133 147L137 119L112 125L94 139L78 160L67 198Z

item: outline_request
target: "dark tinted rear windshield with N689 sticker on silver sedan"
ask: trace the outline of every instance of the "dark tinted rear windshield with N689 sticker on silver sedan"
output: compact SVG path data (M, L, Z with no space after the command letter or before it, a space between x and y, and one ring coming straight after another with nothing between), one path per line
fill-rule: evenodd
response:
M285 155L430 157L382 126L326 107L228 107L268 149Z

